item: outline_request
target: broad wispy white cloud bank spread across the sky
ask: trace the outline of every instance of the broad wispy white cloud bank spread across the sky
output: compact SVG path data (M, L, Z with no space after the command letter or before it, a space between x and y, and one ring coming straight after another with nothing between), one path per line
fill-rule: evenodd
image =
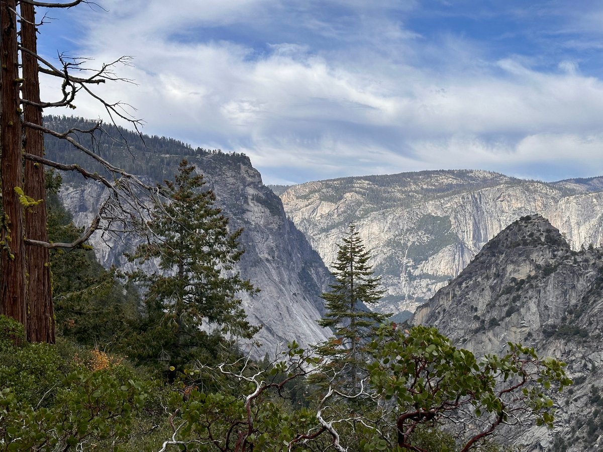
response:
M101 94L136 106L148 133L246 152L269 181L291 180L285 172L294 170L301 180L502 170L538 159L589 162L585 171L603 172L590 165L601 160L603 82L582 75L575 59L555 62L552 71L517 55L489 60L472 40L443 34L429 41L400 18L379 14L364 21L366 36L343 37L350 43L336 48L289 36L294 39L268 40L259 51L235 39L238 27L299 17L283 13L287 2L105 3L110 13L88 16L81 50L96 61L135 55L134 67L119 74L138 86L110 84L99 87ZM363 5L352 6L362 12ZM204 27L216 26L232 26L233 38L205 39ZM281 30L277 38L289 25L273 26ZM367 34L371 28L374 36ZM91 101L77 105L79 115L102 113Z

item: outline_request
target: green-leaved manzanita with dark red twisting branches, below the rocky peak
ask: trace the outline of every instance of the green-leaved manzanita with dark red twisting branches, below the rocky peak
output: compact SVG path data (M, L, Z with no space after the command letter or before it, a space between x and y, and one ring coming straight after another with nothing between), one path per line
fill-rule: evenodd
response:
M551 395L572 383L565 364L539 358L534 348L507 346L504 356L476 359L433 327L382 325L370 345L373 362L368 368L371 388L397 411L397 445L425 450L414 444L414 434L434 422L456 432L461 451L503 424L552 427Z

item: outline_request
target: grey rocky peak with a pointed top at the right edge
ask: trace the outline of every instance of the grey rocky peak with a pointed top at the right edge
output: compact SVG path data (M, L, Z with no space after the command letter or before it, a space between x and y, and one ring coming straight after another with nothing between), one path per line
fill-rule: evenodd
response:
M603 450L603 250L573 251L540 215L514 221L454 280L419 307L433 325L479 356L507 342L567 363L555 428L513 431L520 450Z

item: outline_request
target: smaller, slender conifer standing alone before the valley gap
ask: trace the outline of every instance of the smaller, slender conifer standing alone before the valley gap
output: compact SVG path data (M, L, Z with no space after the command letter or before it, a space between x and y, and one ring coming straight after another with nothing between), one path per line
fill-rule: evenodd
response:
M374 336L379 324L391 314L371 312L368 306L378 303L383 295L379 278L373 276L368 265L370 254L352 223L343 244L338 244L337 259L333 262L336 283L331 291L323 293L327 313L318 321L321 327L335 331L335 337L317 347L317 353L329 360L326 369L329 377L337 376L343 386L351 381L352 392L358 392L359 378L367 361L366 345Z

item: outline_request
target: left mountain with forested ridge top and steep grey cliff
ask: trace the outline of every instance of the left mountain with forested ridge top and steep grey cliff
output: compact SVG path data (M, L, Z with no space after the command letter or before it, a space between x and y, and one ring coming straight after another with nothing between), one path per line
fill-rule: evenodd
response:
M71 127L87 129L85 119L48 116L45 122L57 130ZM308 345L324 341L330 331L317 324L324 312L321 293L328 289L330 274L306 237L286 218L278 196L262 184L262 178L243 154L193 149L177 140L143 136L112 126L109 137L82 135L88 145L114 165L150 183L173 179L183 158L203 173L207 186L215 190L216 204L230 218L234 229L244 228L239 240L245 253L239 263L244 278L262 289L255 297L244 296L243 303L252 324L262 325L255 339L262 348L256 357L273 354L277 347L296 340ZM127 140L128 146L124 145ZM144 141L143 141L144 140ZM73 151L65 142L48 137L46 157L63 163L78 163L90 171L102 171L90 157ZM86 224L104 190L77 174L63 173L61 195L78 224ZM105 266L127 265L122 253L136 245L136 237L99 239L91 242Z

